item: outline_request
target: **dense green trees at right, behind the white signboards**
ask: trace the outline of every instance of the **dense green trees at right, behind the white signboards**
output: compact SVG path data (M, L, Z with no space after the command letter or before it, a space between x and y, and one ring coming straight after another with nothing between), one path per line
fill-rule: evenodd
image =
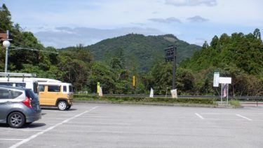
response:
M231 95L262 95L262 60L263 43L259 29L255 29L253 34L222 34L219 39L215 36L210 46L203 46L180 66L196 73L201 80L196 88L201 94L217 93L213 89L213 72L220 72L220 76L232 78Z

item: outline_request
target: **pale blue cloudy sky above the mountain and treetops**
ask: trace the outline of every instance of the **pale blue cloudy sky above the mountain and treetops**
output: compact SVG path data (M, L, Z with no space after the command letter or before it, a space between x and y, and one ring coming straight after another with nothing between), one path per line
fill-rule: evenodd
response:
M44 46L88 46L126 34L174 34L202 46L213 36L263 30L262 0L0 0Z

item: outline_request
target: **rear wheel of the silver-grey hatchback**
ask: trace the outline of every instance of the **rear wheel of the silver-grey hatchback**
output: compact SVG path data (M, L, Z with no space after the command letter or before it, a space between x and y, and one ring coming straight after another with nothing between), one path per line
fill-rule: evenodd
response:
M21 128L25 125L25 116L20 112L13 112L8 116L7 123L11 128Z

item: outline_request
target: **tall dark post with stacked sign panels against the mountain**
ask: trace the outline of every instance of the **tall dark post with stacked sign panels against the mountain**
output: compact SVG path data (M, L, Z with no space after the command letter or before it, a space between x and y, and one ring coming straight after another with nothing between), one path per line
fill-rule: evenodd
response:
M168 46L165 51L164 58L166 59L166 62L172 62L173 61L173 89L176 87L176 47L175 46Z

